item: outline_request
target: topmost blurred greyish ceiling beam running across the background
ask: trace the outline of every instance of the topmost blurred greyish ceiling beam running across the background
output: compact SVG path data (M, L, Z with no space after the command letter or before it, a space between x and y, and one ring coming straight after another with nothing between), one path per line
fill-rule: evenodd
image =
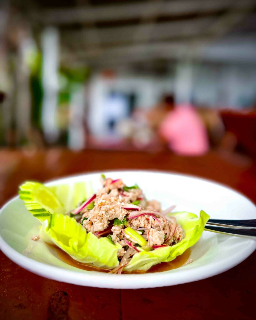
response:
M243 10L248 5L255 3L255 0L243 0L236 4L236 8ZM149 10L150 5L150 10ZM150 19L150 12L155 17L155 12L159 16L179 16L191 13L216 12L231 8L233 1L230 0L173 0L141 2L133 4L114 4L100 6L80 6L71 8L42 9L38 8L30 12L30 16L44 24L73 24L73 23L95 23L97 21L118 21L129 19L140 19L145 10L147 18Z

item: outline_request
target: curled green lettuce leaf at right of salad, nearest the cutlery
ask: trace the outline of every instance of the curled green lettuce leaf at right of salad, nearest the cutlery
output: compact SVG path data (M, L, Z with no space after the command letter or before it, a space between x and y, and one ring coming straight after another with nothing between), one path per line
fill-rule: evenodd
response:
M210 218L203 210L200 212L200 217L197 217L196 214L191 212L172 212L168 215L175 217L183 228L185 232L184 239L172 247L168 246L153 251L141 251L136 253L132 257L130 263L124 267L125 271L148 270L157 263L174 260L178 255L182 254L199 240L203 233L204 226Z

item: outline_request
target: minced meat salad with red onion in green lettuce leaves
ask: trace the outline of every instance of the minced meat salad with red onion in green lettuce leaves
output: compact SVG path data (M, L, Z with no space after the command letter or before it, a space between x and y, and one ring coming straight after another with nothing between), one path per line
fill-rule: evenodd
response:
M103 174L100 181L102 188L93 195L91 183L84 181L22 184L20 198L42 222L33 240L55 244L77 261L121 274L175 259L198 241L209 219L204 211L199 217L172 212L175 206L163 211L137 184L127 186Z

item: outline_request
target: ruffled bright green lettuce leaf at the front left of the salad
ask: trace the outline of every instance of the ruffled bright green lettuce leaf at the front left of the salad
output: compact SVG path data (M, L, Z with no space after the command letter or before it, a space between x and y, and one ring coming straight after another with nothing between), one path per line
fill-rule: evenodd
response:
M45 220L40 229L40 238L55 244L73 259L91 263L96 267L115 268L118 266L117 250L120 244L113 244L107 237L98 239L77 223L74 218L53 213L50 222Z

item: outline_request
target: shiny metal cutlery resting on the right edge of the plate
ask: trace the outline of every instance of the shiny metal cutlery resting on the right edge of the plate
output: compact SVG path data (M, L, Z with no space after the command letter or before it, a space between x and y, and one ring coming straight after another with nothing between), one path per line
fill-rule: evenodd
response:
M226 234L229 236L240 236L256 240L256 219L251 220L220 220L209 219L204 230Z

